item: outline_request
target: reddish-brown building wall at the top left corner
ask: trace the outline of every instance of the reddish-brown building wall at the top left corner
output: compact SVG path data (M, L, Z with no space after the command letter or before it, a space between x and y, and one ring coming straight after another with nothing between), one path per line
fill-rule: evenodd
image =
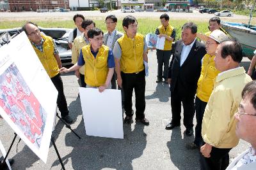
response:
M65 1L65 3L64 3ZM36 11L40 9L68 8L68 0L9 0L11 11Z

